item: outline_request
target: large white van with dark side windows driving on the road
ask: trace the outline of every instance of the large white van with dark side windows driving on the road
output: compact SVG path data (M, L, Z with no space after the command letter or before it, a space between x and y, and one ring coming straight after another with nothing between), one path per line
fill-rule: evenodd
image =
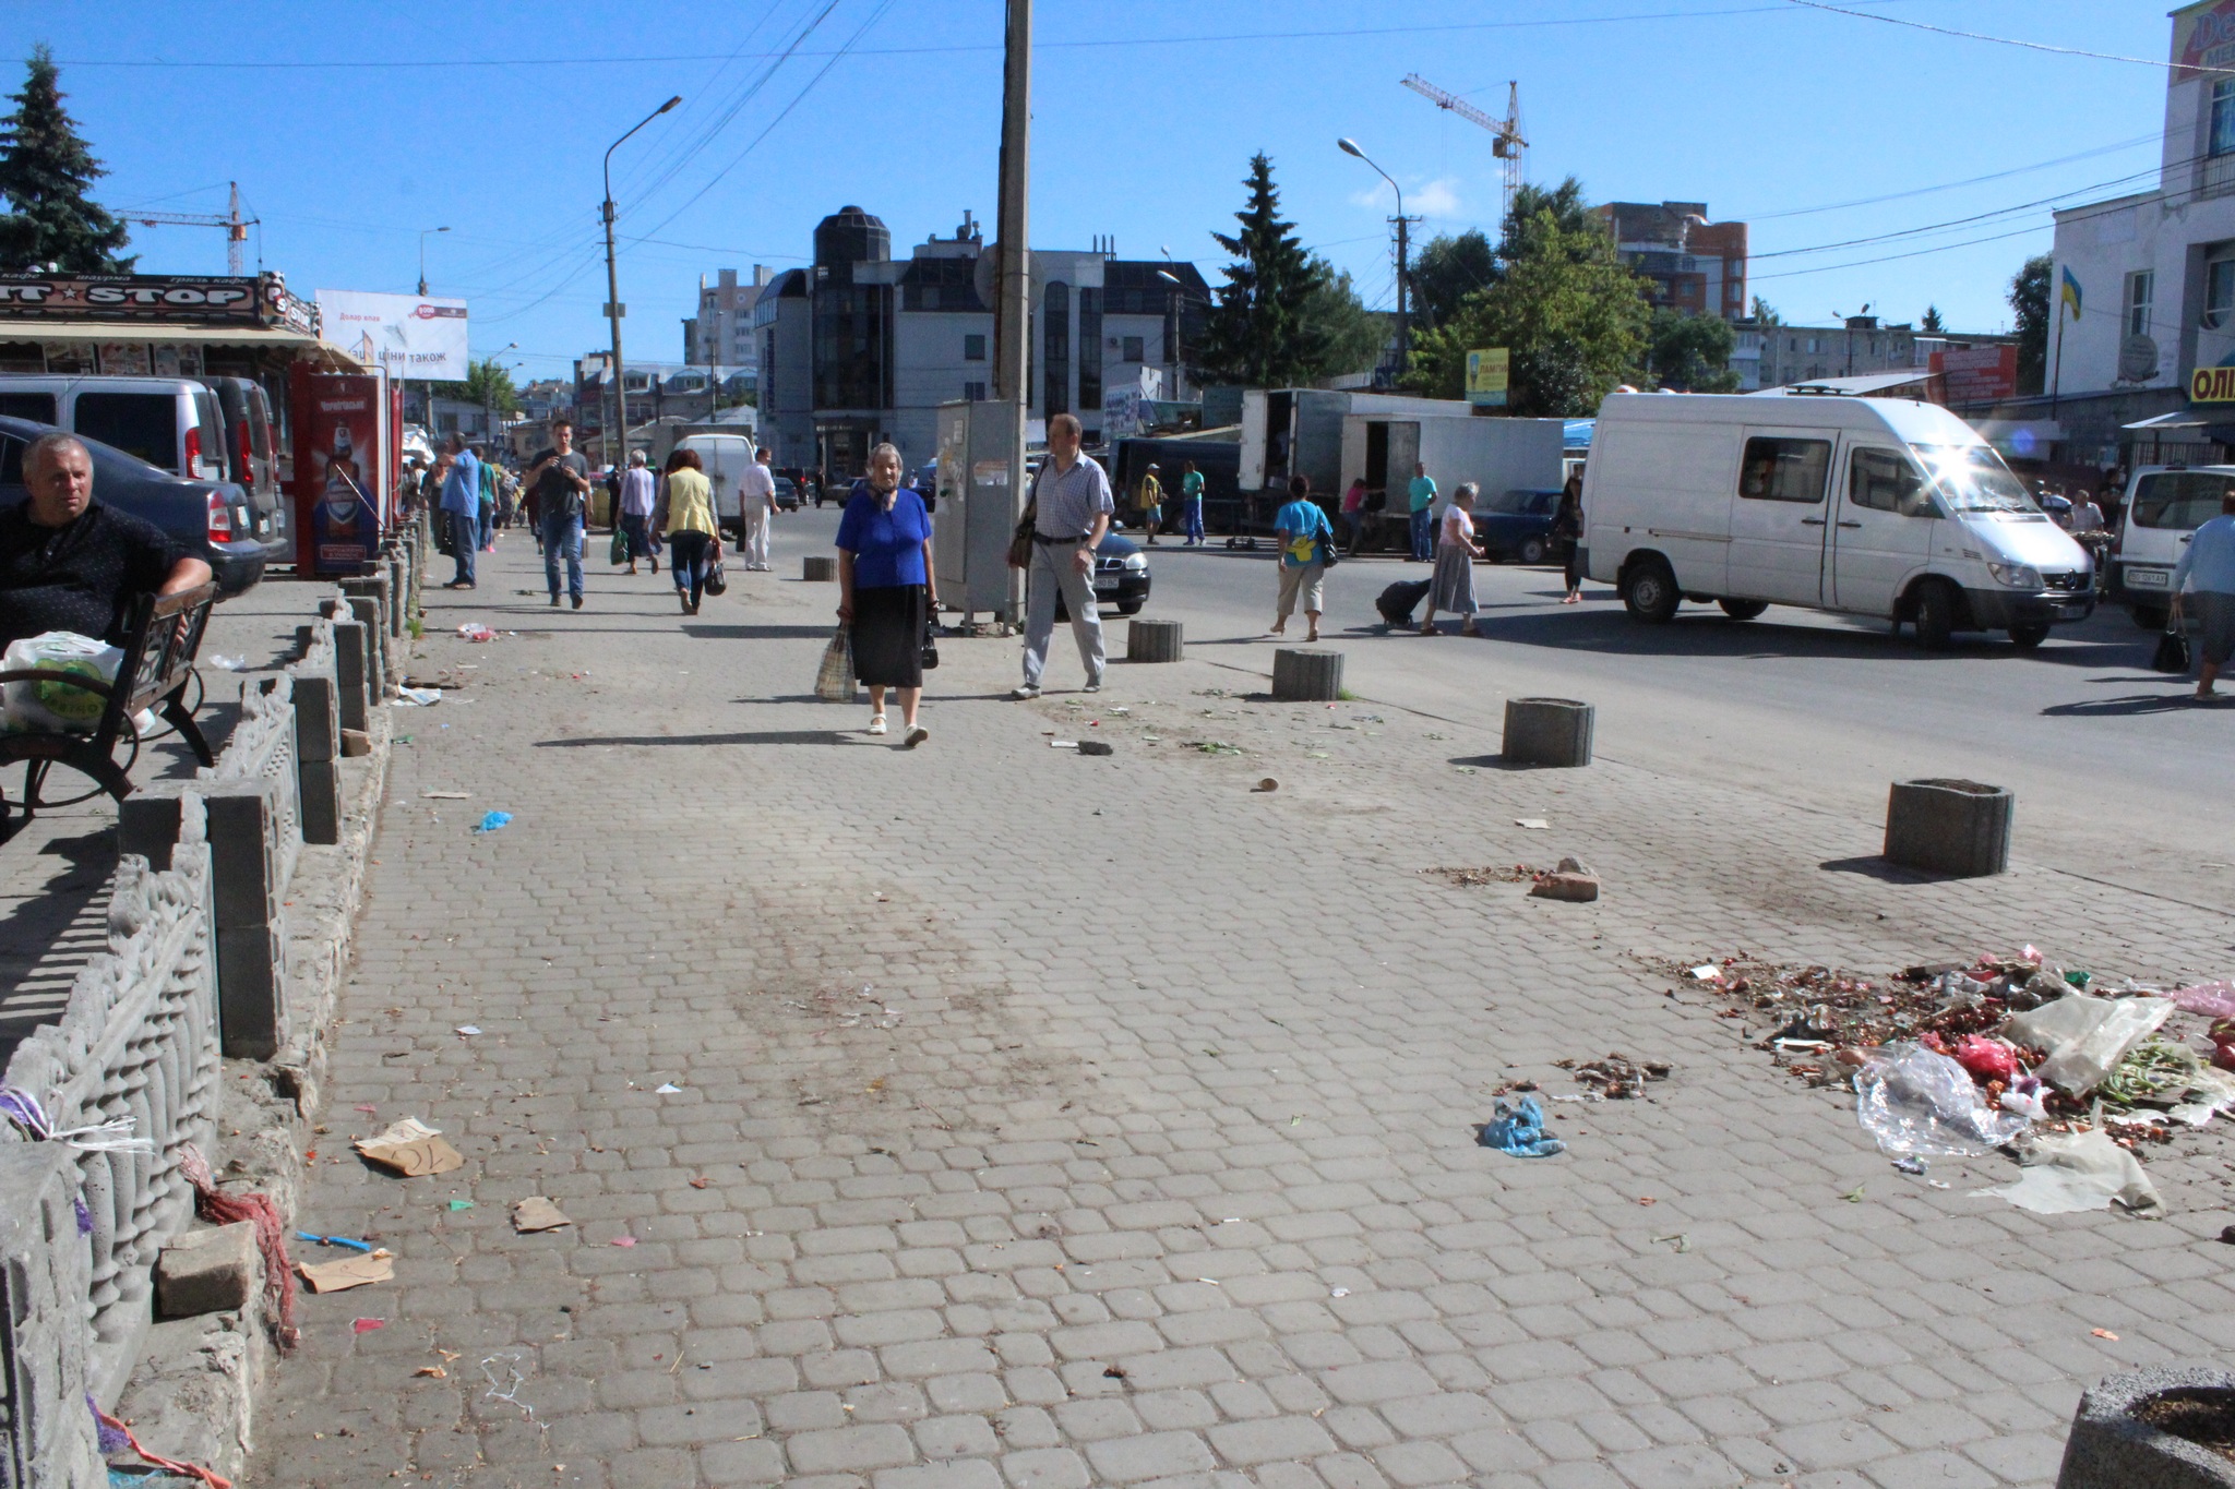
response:
M1714 601L1913 621L2020 647L2094 609L2087 551L1947 409L1808 393L1614 393L1582 478L1585 571L1638 621Z

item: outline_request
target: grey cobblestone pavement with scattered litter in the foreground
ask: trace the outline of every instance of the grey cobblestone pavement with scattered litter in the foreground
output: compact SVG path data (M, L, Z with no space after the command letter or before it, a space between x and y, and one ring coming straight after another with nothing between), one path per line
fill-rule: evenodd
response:
M1640 967L2224 969L2193 906L1504 772L1359 665L1332 710L1209 661L1012 705L1015 643L948 641L903 752L805 699L831 587L550 612L519 536L485 576L429 601L418 670L474 672L398 726L302 1217L398 1277L306 1299L253 1482L2047 1485L2087 1382L2235 1342L2215 1134L2155 1150L2155 1223L1933 1188ZM1562 853L1598 904L1419 875ZM1475 1145L1609 1049L1674 1076L1556 1103L1564 1156ZM467 1165L349 1156L400 1116ZM574 1226L514 1235L530 1194Z

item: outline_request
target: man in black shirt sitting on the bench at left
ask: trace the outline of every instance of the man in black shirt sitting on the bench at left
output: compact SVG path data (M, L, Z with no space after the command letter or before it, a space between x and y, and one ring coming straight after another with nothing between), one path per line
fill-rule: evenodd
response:
M0 647L42 632L123 645L132 603L210 583L154 522L94 500L94 458L47 433L22 458L29 498L0 509Z

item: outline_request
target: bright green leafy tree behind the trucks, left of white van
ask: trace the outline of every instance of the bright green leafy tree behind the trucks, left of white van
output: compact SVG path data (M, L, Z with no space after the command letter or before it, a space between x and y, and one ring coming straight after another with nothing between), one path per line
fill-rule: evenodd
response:
M1459 313L1413 342L1406 386L1462 397L1466 353L1513 353L1509 411L1580 417L1632 377L1647 344L1645 281L1614 252L1582 183L1524 185L1497 246L1497 279L1466 295Z

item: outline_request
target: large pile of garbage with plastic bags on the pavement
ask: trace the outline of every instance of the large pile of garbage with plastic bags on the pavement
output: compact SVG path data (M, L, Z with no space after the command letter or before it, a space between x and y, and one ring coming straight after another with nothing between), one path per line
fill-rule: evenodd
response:
M1757 1047L1808 1085L1853 1083L1862 1127L1906 1172L2016 1152L2020 1181L1982 1192L2043 1214L2157 1208L2137 1150L2235 1112L2231 982L2108 984L2034 947L1893 978L1743 953L1656 971L1721 993L1721 1018L1761 1018ZM2175 1014L2206 1020L2208 1051L2168 1031Z

